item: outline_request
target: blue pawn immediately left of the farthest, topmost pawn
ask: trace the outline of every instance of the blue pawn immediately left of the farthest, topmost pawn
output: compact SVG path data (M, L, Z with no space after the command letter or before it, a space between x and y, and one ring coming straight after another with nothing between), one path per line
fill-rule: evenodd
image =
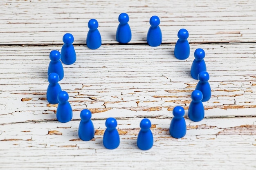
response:
M98 49L101 46L101 34L97 29L99 26L98 21L91 19L88 22L89 31L86 38L86 45L89 49Z

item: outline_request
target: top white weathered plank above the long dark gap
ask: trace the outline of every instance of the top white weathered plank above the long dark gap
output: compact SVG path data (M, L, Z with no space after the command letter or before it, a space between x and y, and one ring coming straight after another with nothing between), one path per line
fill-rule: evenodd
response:
M149 19L158 15L163 43L175 43L188 29L190 42L256 42L254 0L2 0L0 44L61 44L66 32L85 44L88 21L95 18L103 44L116 44L118 15L130 16L130 43L146 43Z

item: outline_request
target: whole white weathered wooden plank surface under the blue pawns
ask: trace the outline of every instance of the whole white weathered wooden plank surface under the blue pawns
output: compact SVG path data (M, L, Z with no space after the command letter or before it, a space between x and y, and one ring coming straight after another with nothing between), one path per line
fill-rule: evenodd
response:
M253 0L2 0L0 12L0 169L253 170L256 169L256 3ZM115 40L120 13L128 13L132 40ZM151 16L163 41L146 44ZM88 21L99 22L102 46L86 46ZM187 60L173 55L177 32L189 31ZM46 100L49 52L74 35L77 60L63 65L60 85L70 95L73 119L56 120ZM187 117L197 80L193 52L204 49L212 97L205 118ZM186 136L169 126L183 106ZM80 111L92 111L95 137L78 137ZM121 143L102 144L105 121L115 117ZM139 122L152 123L154 146L136 146Z

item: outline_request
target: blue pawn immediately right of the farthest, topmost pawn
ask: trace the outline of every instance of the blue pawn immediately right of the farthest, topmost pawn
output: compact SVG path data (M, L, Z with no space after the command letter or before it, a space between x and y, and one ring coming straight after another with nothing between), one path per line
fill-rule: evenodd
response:
M159 27L160 20L158 16L152 16L149 20L150 28L148 29L147 42L150 46L159 46L162 43L162 31Z

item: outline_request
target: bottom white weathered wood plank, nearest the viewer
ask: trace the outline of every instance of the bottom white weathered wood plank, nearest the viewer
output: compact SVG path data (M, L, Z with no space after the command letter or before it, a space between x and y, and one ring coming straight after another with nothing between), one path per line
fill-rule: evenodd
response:
M94 115L93 115L94 117ZM97 169L254 169L256 118L186 119L187 134L182 139L170 137L171 119L151 119L154 146L141 151L136 146L139 121L119 119L121 143L115 150L103 147L105 120L93 118L96 129L92 141L77 135L79 120L66 124L57 121L22 122L0 125L1 168L68 169L85 166ZM142 155L142 156L141 156ZM95 161L97 160L97 161ZM184 163L186 162L186 163ZM65 168L63 168L65 166Z

